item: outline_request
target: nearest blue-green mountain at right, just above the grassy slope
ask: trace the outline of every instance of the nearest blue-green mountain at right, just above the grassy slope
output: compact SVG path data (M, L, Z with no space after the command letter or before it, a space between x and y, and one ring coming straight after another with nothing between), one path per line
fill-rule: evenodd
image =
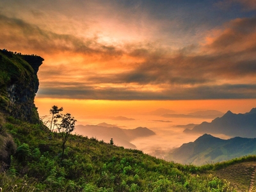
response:
M165 159L184 164L202 165L216 163L236 157L256 154L256 138L232 138L221 140L204 134L194 142L184 143L175 148Z

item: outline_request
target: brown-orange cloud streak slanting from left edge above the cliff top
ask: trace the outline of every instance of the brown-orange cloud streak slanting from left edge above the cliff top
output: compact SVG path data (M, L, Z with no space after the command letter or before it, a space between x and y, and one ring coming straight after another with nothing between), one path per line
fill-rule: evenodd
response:
M12 49L24 51L40 51L44 53L73 52L82 54L106 54L118 56L122 54L115 47L97 43L95 39L81 39L72 35L61 35L45 31L20 19L12 19L0 15L1 42ZM19 44L18 44L19 42Z

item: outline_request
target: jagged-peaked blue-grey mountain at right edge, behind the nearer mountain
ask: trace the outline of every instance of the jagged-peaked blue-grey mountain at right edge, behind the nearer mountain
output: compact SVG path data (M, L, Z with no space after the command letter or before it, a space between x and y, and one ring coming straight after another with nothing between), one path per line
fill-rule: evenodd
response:
M193 129L185 129L184 132L256 138L256 108L244 114L235 114L228 111L221 118L212 120L211 123L203 122L200 125L196 125Z

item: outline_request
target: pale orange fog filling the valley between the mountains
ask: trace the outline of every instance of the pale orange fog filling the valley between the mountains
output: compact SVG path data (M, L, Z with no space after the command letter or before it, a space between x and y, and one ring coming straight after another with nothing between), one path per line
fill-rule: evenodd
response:
M109 118L108 116L95 116L91 118L87 117L84 120L86 120L86 122L77 122L77 125L97 125L105 122L122 129L147 127L148 129L154 131L156 135L136 138L135 140L132 140L131 143L135 145L138 150L142 150L143 152L153 156L161 157L161 153L168 152L168 150L175 147L180 147L180 145L183 143L195 141L196 138L202 135L184 133L183 131L186 129L186 126L183 125L201 124L204 121L211 122L212 118L165 118L160 115L130 115L127 116L127 120L113 120L113 118ZM193 125L187 127L193 127ZM84 132L84 136L86 136L86 132ZM215 136L225 139L228 138L227 136L221 135ZM97 137L97 135L95 135L95 137L102 140L102 138ZM110 139L111 138L109 138L109 140ZM104 140L104 142L108 143L109 140ZM118 145L118 143L115 142L115 139L114 143L115 145Z

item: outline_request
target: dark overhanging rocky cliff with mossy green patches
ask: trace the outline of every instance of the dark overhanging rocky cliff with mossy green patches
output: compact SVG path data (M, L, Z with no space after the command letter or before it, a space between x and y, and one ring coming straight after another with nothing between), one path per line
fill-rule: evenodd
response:
M38 123L34 104L39 81L37 72L43 58L0 50L0 111L5 115Z

